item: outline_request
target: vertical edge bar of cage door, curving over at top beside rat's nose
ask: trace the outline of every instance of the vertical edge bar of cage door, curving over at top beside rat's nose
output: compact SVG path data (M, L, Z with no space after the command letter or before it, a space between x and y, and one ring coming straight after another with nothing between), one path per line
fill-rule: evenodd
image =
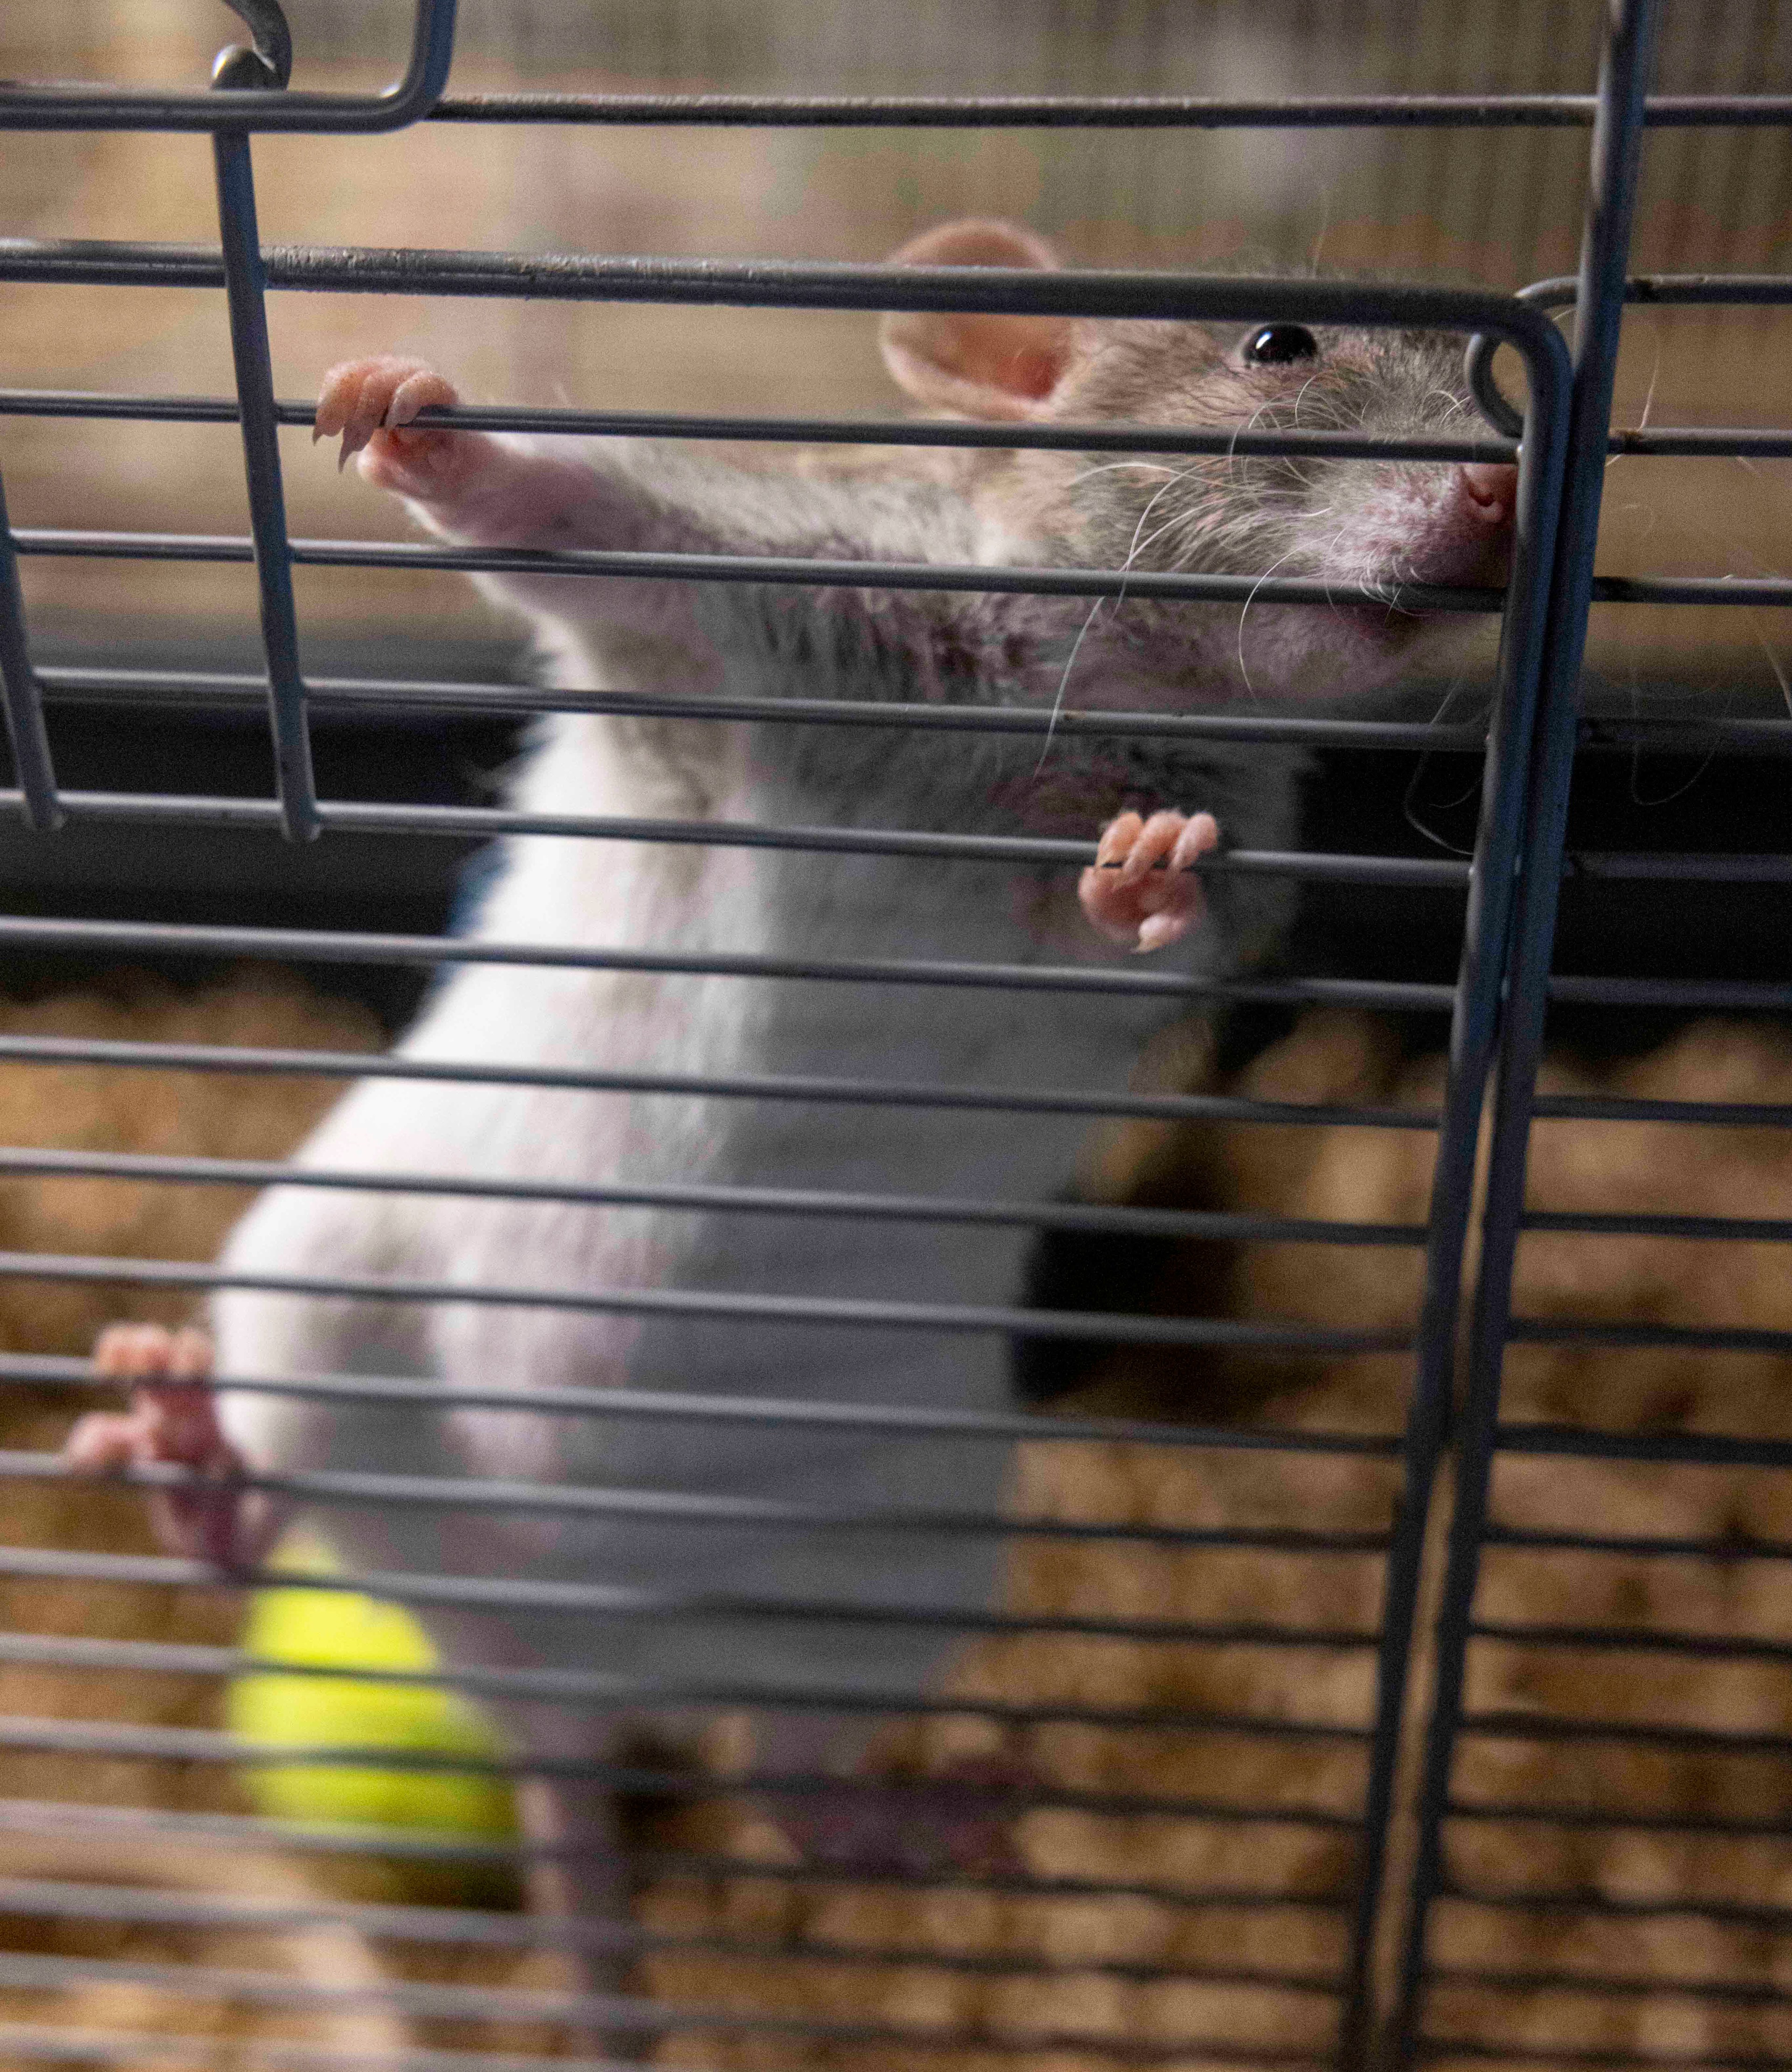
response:
M1363 2064L1376 2031L1376 1958L1388 1935L1388 1832L1403 1763L1413 1637L1421 1595L1432 1490L1450 1430L1456 1318L1463 1299L1463 1247L1475 1196L1475 1150L1487 1071L1500 1032L1512 891L1525 825L1525 785L1537 690L1548 655L1550 572L1562 470L1568 452L1568 352L1543 334L1527 354L1531 398L1519 450L1519 503L1506 617L1500 628L1496 725L1487 746L1481 825L1463 924L1463 959L1450 1021L1450 1071L1432 1177L1425 1293L1413 1401L1403 1438L1400 1508L1388 1550L1378 1656L1376 1736L1363 1792L1363 1859L1347 1964L1340 2062ZM1481 342L1477 340L1475 346ZM1473 348L1471 348L1473 350Z

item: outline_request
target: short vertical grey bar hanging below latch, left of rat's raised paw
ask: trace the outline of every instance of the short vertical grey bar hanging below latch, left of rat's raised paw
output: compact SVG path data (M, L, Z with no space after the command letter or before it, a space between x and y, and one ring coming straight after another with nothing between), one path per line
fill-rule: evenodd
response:
M228 64L228 60L226 60ZM267 655L267 704L273 773L288 841L317 835L317 785L311 729L298 669L298 615L292 603L292 549L280 485L280 425L273 410L273 363L267 346L267 278L255 226L255 174L244 131L218 131L218 228L224 244L224 292L230 305L230 354L242 410L242 470L249 481L249 530L261 588L261 644Z

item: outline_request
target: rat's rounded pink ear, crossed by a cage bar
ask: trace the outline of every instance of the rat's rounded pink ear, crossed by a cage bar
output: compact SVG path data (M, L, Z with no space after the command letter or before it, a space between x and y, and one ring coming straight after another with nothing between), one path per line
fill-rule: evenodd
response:
M914 238L893 265L1005 265L1048 271L1059 257L1017 224L945 224ZM959 311L893 311L883 319L883 356L916 402L961 416L1034 416L1073 358L1071 317L994 317Z

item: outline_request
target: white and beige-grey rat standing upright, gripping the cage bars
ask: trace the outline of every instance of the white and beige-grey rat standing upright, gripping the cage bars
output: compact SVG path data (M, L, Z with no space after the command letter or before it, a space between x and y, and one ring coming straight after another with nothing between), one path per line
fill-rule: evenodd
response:
M1052 267L1028 230L965 222L897 253L914 265ZM1461 346L1436 334L1270 323L907 313L883 354L922 410L984 423L1322 425L1374 433L1471 419ZM603 547L1001 566L1305 574L1374 584L1386 607L963 595L667 582L505 570L485 593L534 632L551 684L742 698L876 698L1183 713L1291 707L1394 682L1461 622L1398 607L1409 582L1500 582L1516 470L1502 464L883 448L851 456L692 450L638 439L414 423L456 390L406 358L356 358L321 392L317 435L429 530L479 547ZM510 783L537 814L636 814L996 835L1098 835L1063 868L512 837L470 934L491 943L758 951L789 959L1123 963L1187 972L1268 955L1287 920L1272 881L1195 864L1226 839L1287 847L1297 762L1189 740L965 736L818 723L561 713ZM1175 1003L1170 1003L1175 1005ZM402 1042L412 1059L667 1073L810 1075L1117 1090L1166 1017L1160 997L916 982L460 966ZM764 1185L1005 1198L1069 1189L1077 1117L922 1104L607 1094L369 1080L296 1154L331 1171L605 1183ZM634 1208L578 1200L356 1193L282 1185L230 1237L226 1276L350 1274L570 1291L872 1297L1003 1305L1028 1233L941 1222ZM131 1407L83 1419L87 1471L176 1461L153 1496L170 1546L253 1569L288 1504L244 1473L392 1467L615 1492L605 1513L329 1506L350 1569L559 1577L605 1585L580 1616L427 1608L450 1662L615 1674L613 1709L505 1701L522 1757L613 1761L626 1730L688 1738L713 1703L680 1689L767 1689L760 1769L849 1778L874 1711L938 1687L953 1620L999 1587L994 1531L901 1517L1001 1508L1007 1450L793 1423L543 1417L346 1405L218 1388L209 1376L377 1374L922 1411L1011 1407L1001 1328L897 1328L526 1303L402 1303L224 1287L209 1330L116 1326L95 1347ZM773 1527L655 1513L653 1492L723 1513L791 1506ZM831 1527L804 1513L854 1523ZM891 1523L880 1525L880 1519ZM744 1604L744 1600L750 1600ZM837 1616L822 1616L839 1606ZM870 1618L851 1610L868 1608ZM880 1614L880 1616L878 1616ZM928 1614L928 1616L909 1616ZM665 1697L657 1697L665 1693ZM777 1709L808 1695L808 1703ZM831 1707L833 1701L833 1707ZM746 1703L746 1697L742 1697ZM924 1794L922 1794L924 1796ZM613 1910L619 1852L601 1782L559 1774L528 1805L580 1848L555 1904ZM798 1848L849 1861L976 1861L988 1821L916 1798L827 1788L771 1809Z

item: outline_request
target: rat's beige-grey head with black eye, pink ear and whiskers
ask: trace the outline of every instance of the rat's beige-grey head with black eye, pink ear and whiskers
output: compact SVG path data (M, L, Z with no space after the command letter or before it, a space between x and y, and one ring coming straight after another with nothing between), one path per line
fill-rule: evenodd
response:
M905 265L1052 267L1042 238L965 222L905 244ZM1463 340L1440 332L905 313L883 350L932 410L1007 423L1258 431L1473 433ZM1007 454L980 491L1032 553L1086 566L1307 576L1380 603L1237 607L1233 667L1280 694L1369 690L1477 615L1403 609L1413 584L1506 576L1516 468L1498 462L1191 454ZM1206 646L1212 611L1181 613Z

